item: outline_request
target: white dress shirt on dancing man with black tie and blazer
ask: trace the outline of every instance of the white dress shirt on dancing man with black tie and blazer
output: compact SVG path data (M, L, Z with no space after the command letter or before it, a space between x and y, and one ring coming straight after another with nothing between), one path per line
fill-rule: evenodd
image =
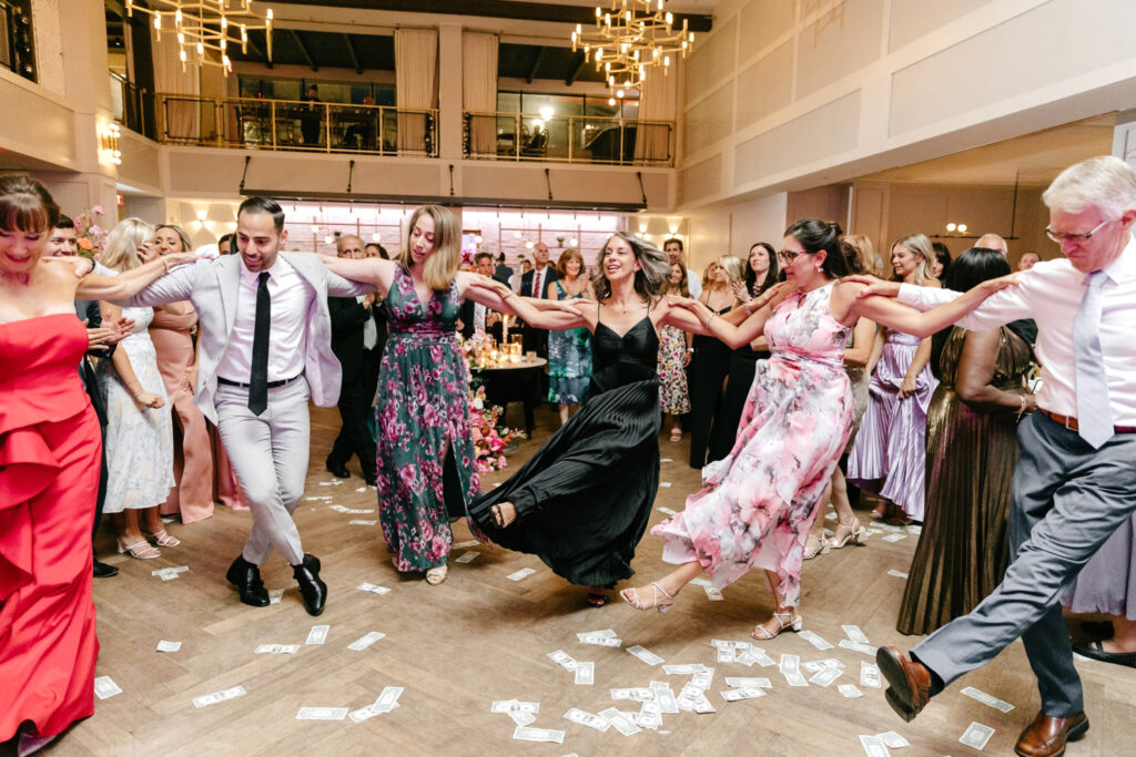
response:
M217 376L229 381L252 380L252 338L257 323L257 287L260 274L241 260L241 281L236 294L236 319L228 335L225 354L217 364ZM308 319L314 316L316 293L283 258L268 269L268 295L272 298L272 325L268 339L268 380L283 381L303 372L307 353Z

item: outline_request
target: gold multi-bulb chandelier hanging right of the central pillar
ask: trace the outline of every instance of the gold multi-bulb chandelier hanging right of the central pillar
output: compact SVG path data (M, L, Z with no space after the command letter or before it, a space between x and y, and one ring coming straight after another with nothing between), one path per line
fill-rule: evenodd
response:
M608 10L595 7L594 30L576 25L573 52L584 49L585 62L594 60L595 70L603 70L615 98L623 98L624 90L642 90L648 67L668 75L671 59L685 58L694 45L686 19L675 28L674 16L662 6L663 0L611 0Z

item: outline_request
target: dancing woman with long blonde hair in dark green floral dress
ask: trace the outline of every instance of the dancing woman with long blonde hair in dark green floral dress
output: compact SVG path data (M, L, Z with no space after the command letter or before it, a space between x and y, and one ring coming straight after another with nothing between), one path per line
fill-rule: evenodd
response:
M394 566L445 580L453 545L450 515L467 515L481 491L469 429L469 369L456 337L461 298L490 308L500 297L459 271L461 229L425 205L410 217L395 260L331 258L328 270L374 284L386 296L390 337L378 376L378 518ZM477 533L473 521L469 527Z

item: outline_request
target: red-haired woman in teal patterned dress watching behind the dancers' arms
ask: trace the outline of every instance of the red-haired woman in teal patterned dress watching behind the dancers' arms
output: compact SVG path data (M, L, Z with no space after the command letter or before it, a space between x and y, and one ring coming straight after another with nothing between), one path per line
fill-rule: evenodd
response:
M557 261L559 277L548 291L550 300L594 300L584 275L584 255L565 250ZM568 422L587 393L592 377L592 333L585 328L549 331L549 402L560 404L560 424Z

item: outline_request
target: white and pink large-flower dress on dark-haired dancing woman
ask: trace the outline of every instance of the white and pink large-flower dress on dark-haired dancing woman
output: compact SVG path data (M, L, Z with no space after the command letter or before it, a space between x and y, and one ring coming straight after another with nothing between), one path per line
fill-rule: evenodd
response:
M719 588L753 566L776 571L785 604L799 604L804 540L852 426L850 329L828 310L832 292L795 292L769 317L771 356L758 363L734 448L702 469L686 510L652 529L666 562L698 560Z

